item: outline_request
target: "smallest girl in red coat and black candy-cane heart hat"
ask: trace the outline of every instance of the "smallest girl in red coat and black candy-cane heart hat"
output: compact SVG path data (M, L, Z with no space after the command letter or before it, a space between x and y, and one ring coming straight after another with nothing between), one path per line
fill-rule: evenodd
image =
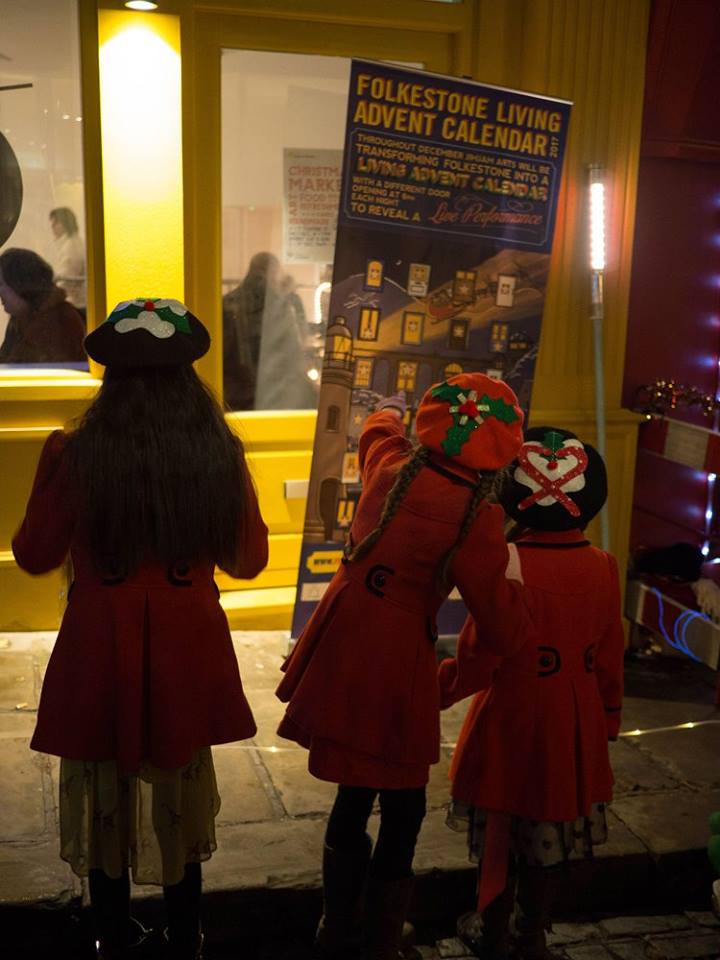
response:
M607 496L599 454L565 430L537 427L500 495L517 528L508 576L523 583L527 642L500 659L493 624L468 619L440 667L443 707L480 690L453 758L449 822L481 860L477 914L458 932L486 960L510 955L518 881L518 956L549 960L551 868L607 837L620 727L624 634L614 558L582 530ZM519 877L516 877L516 871Z

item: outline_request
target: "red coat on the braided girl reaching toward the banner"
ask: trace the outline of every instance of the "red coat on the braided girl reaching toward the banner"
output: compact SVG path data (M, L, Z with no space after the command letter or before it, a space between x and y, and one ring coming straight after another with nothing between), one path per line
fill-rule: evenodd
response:
M395 414L368 417L359 445L363 494L354 543L377 526L409 454ZM288 708L279 733L310 747L310 770L322 779L420 786L428 765L439 759L434 639L445 597L437 576L477 474L443 457L435 465L442 472L420 471L369 553L341 566L284 665L277 695ZM520 585L505 578L502 516L500 507L481 505L451 579L478 620L497 625L487 634L488 648L510 654L524 640L527 610ZM503 610L510 612L503 616Z

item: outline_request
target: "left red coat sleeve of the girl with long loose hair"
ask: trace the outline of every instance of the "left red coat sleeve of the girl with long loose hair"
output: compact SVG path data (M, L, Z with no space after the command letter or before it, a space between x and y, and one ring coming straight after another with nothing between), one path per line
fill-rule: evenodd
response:
M13 537L15 560L27 573L54 570L70 550L75 511L63 459L66 443L62 430L54 430L45 441L25 517Z

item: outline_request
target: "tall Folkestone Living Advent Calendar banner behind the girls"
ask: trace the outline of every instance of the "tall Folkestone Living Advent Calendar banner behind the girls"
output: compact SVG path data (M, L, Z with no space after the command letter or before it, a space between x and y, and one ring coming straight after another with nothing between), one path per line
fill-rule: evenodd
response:
M332 294L293 636L342 557L358 438L404 390L501 377L527 413L570 104L353 61ZM451 596L441 633L462 624Z

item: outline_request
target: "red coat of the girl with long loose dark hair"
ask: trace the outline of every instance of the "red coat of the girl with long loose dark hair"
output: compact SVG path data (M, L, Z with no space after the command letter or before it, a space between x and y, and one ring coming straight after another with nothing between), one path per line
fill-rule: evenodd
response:
M13 540L28 573L60 566L74 583L43 682L31 747L75 760L142 761L174 769L201 747L255 733L227 618L210 564L166 570L146 564L103 580L78 533L82 504L50 434L25 519ZM251 578L267 563L267 528L248 478L250 522L242 558L229 570Z

